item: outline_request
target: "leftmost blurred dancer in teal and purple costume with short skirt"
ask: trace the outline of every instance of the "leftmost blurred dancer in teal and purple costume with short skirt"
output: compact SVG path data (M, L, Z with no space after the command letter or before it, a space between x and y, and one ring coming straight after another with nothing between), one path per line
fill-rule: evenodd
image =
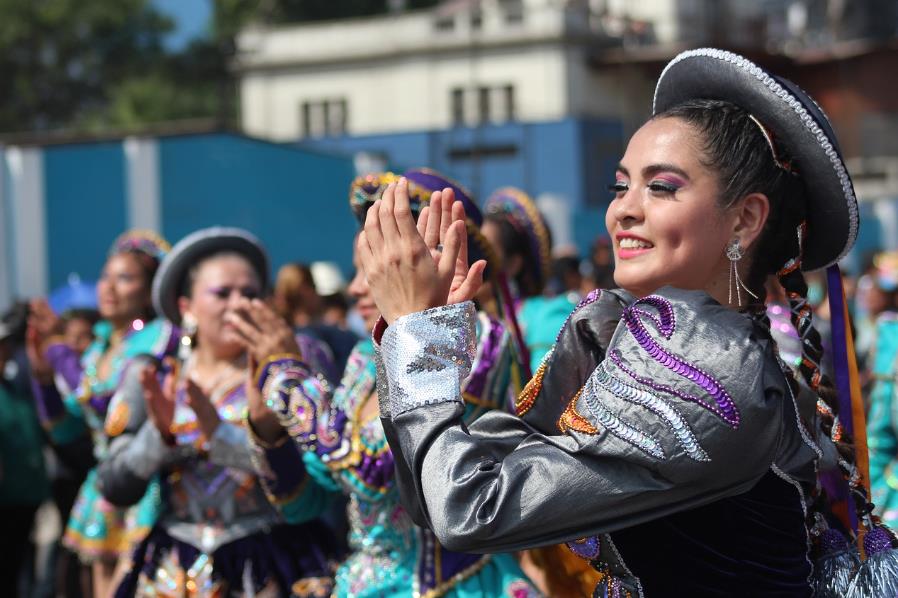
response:
M99 283L100 310L106 319L94 328L96 340L80 362L52 340L42 343L37 331L30 330L29 358L38 414L57 446L66 447L89 435L94 457L102 461L108 453L109 437L115 435L121 419L107 410L129 363L137 355L161 357L173 349L176 336L171 324L149 317L150 283L168 249L167 242L146 231L126 233L115 242ZM63 396L54 374L79 380L76 390ZM95 565L95 595L107 593L115 563L150 530L158 508L155 482L137 505L121 509L100 495L96 470L88 473L63 543L83 562Z

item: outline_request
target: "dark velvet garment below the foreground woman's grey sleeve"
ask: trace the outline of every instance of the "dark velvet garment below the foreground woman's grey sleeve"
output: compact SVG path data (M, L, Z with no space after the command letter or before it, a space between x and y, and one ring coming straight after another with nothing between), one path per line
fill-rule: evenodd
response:
M773 473L745 494L611 537L646 596L812 595L801 499Z

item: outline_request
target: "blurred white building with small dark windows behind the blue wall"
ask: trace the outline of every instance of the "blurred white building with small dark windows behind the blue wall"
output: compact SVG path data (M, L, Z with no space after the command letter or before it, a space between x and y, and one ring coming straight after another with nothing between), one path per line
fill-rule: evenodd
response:
M293 140L568 116L641 119L657 73L596 69L591 57L618 46L618 35L673 40L672 27L657 28L659 38L642 13L628 11L639 5L646 17L664 16L681 4L461 0L376 18L254 27L240 35L235 62L243 127Z

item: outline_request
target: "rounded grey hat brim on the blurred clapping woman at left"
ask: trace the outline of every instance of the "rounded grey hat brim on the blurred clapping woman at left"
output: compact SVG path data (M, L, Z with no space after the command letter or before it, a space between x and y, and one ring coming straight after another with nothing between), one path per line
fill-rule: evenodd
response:
M239 228L213 227L181 239L165 256L153 278L153 307L175 324L181 323L178 298L190 269L216 253L233 252L249 261L259 276L261 291L268 288L268 254L252 234Z

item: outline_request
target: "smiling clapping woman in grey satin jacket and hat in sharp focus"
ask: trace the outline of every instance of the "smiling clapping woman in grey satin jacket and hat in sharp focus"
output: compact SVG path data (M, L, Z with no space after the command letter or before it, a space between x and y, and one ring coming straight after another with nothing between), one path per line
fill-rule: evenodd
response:
M460 420L482 267L453 269L461 226L435 263L404 182L368 212L358 252L389 324L378 390L403 502L455 550L567 541L602 574L597 596L894 595L894 536L869 516L804 298L802 269L857 233L830 125L793 84L710 49L668 65L654 111L606 214L622 288L581 302L519 398L523 421ZM815 392L777 358L771 273ZM860 569L817 489L821 448L838 449L869 530ZM815 582L811 551L834 549Z

